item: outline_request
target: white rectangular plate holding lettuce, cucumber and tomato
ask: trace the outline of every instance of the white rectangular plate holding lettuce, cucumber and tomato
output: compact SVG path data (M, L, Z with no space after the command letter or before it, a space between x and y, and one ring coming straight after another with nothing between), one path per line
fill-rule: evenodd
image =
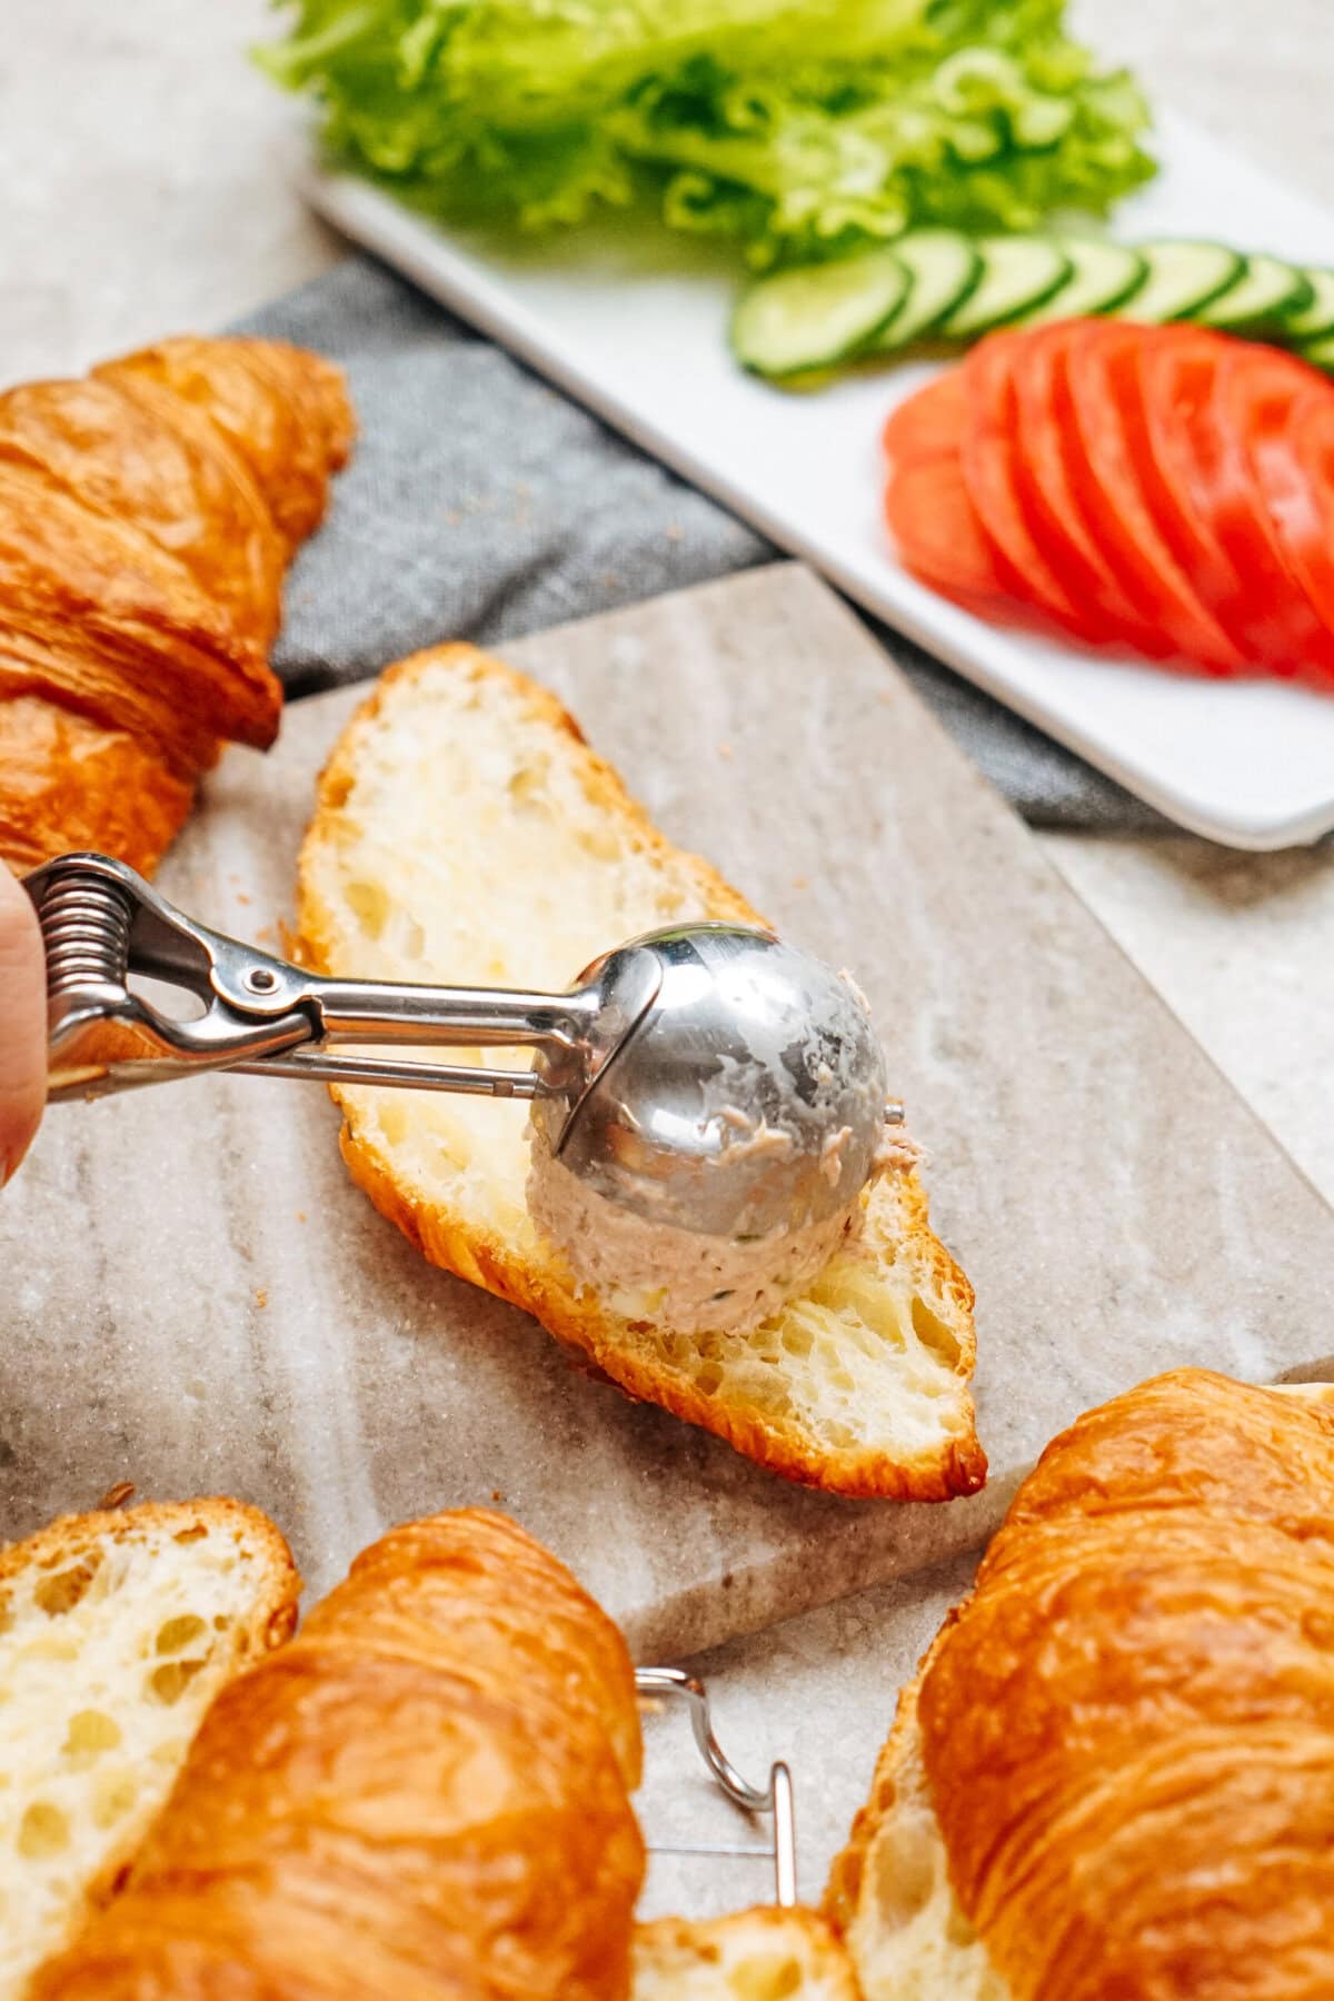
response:
M1212 236L1334 264L1316 202L1180 120L1158 152L1162 174L1120 212L1128 240ZM880 516L880 426L928 366L774 390L732 362L736 262L714 246L626 228L496 244L352 176L300 178L348 236L1182 826L1238 848L1334 826L1334 696L1092 658L996 630L906 574Z

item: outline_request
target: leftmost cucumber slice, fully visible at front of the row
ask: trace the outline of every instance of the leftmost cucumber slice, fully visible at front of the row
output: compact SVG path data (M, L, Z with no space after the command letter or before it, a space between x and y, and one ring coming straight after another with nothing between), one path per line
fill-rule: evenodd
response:
M892 250L760 278L732 316L732 352L756 374L832 368L868 346L908 296Z

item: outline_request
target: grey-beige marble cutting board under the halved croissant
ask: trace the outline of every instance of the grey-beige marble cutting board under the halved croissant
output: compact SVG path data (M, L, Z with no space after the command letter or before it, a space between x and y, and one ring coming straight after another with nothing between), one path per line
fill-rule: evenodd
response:
M322 1091L210 1079L52 1111L4 1195L6 1535L120 1479L232 1491L324 1589L388 1521L498 1501L648 1659L974 1547L1052 1431L1142 1375L1328 1365L1334 1215L822 584L776 564L508 656L868 990L978 1287L992 1485L944 1509L782 1485L420 1263L346 1181ZM276 940L358 698L224 758L168 894Z

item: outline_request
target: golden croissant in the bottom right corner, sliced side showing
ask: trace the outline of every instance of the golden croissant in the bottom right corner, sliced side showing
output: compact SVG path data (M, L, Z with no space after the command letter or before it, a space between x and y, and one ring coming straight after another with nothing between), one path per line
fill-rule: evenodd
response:
M868 2001L1334 1995L1328 1395L1178 1371L1046 1449L828 1903Z

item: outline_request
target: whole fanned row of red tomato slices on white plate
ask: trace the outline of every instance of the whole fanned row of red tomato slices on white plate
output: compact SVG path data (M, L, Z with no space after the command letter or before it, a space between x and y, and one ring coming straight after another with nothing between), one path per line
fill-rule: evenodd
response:
M1006 330L892 412L906 566L1092 646L1334 682L1334 384L1192 326Z

